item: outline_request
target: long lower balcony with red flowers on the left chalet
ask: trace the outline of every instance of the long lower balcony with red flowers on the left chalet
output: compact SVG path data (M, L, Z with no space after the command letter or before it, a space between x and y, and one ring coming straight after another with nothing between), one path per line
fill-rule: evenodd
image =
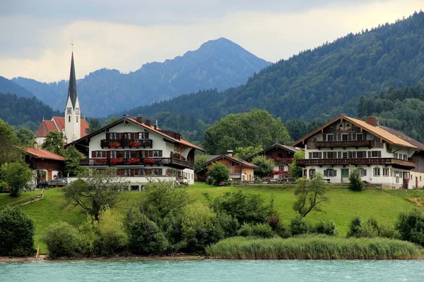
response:
M193 168L193 164L184 159L176 158L115 158L115 159L80 159L80 166L139 166L139 165L164 165L179 168Z

